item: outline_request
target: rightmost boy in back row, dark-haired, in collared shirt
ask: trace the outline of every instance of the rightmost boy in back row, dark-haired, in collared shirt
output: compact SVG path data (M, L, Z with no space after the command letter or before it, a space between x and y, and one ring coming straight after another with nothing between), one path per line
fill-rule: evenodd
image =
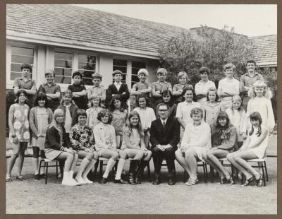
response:
M247 94L248 91L252 88L252 85L254 85L256 81L264 81L262 75L255 71L256 66L257 65L254 60L247 60L247 73L240 77L240 92L243 102L242 105L245 111L247 111L247 102L250 100L250 97Z

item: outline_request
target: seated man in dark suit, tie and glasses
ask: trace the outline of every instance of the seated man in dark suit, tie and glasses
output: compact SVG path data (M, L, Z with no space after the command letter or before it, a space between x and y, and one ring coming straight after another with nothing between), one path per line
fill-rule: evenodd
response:
M168 117L168 106L164 103L160 104L157 112L159 119L151 124L150 143L152 144L152 157L154 160L154 185L160 183L159 173L163 159L166 159L168 167L168 185L176 183L173 177L175 151L178 149L180 124L176 119Z

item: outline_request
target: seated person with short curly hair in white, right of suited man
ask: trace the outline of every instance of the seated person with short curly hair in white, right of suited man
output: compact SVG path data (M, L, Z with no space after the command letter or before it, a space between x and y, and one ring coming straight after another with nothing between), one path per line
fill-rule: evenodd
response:
M186 184L192 186L199 181L197 178L197 160L211 147L211 129L202 121L203 112L200 107L191 109L192 123L185 126L180 148L176 150L176 160L188 172L190 178Z

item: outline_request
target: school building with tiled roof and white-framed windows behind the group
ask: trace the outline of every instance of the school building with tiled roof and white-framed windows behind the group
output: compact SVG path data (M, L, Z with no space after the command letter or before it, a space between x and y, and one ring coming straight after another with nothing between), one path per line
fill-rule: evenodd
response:
M6 89L20 77L23 62L32 64L37 88L45 81L46 69L56 71L61 90L72 83L75 70L84 73L85 85L92 85L91 75L98 71L107 88L112 71L120 69L123 82L132 88L139 81L137 71L146 68L152 83L157 81L161 45L183 32L197 37L196 30L66 4L7 4ZM276 68L277 36L250 40L257 49L257 63Z

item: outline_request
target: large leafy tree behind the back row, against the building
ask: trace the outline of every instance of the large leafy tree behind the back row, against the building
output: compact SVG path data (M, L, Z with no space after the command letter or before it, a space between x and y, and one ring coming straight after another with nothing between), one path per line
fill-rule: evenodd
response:
M211 70L209 78L217 83L224 77L223 66L230 62L236 66L235 78L239 79L245 72L246 59L252 58L247 36L235 34L227 26L222 30L202 26L195 33L183 32L159 49L161 66L169 72L168 81L177 83L177 73L186 71L194 85L200 80L200 67L206 66Z

